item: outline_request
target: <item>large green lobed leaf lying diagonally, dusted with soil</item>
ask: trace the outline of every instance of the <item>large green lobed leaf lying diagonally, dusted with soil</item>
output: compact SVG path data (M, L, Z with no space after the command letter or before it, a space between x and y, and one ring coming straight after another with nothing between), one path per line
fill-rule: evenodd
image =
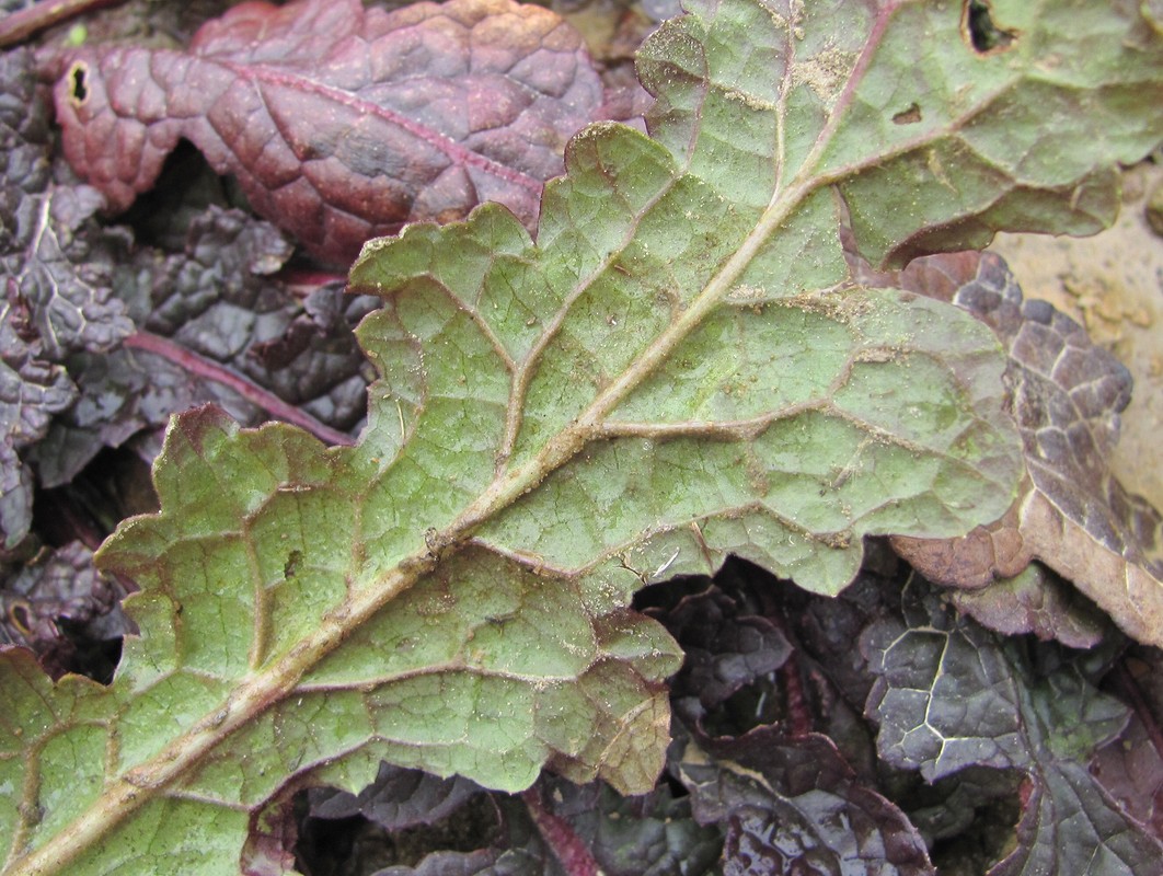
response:
M844 285L994 227L1090 230L1160 138L1135 3L692 5L644 48L652 140L571 143L536 243L506 211L369 244L383 377L355 448L201 409L109 688L7 651L3 874L236 874L264 807L381 757L499 789L650 788L673 642L626 606L728 551L835 592L865 534L949 536L1021 476L989 329ZM1154 42L1149 42L1154 40Z

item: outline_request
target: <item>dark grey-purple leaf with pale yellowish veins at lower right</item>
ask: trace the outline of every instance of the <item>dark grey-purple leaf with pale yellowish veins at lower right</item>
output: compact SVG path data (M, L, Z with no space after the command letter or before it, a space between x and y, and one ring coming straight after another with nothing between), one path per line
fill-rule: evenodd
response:
M1126 707L1055 646L999 640L919 578L904 606L862 641L879 676L868 703L878 748L930 782L983 765L1026 775L1018 847L991 876L1157 874L1163 845L1085 767L1123 729Z

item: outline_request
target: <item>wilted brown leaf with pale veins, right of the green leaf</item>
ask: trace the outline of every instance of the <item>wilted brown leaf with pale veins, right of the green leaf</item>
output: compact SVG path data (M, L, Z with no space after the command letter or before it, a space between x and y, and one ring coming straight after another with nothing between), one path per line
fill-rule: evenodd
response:
M1107 468L1119 440L1119 412L1130 400L1127 370L1069 316L1044 301L1023 300L996 255L932 256L891 272L852 266L862 283L952 301L993 328L1009 354L1009 407L1025 444L1028 476L1001 520L965 539L893 539L898 551L926 577L959 587L986 586L1041 560L1128 634L1163 644L1163 519ZM1044 612L1075 608L1056 594L1043 596L1041 619L1035 622L1039 611L1032 611L1028 625L1007 632L1090 626L1083 615L1048 622ZM1013 593L999 591L998 599L1000 607Z

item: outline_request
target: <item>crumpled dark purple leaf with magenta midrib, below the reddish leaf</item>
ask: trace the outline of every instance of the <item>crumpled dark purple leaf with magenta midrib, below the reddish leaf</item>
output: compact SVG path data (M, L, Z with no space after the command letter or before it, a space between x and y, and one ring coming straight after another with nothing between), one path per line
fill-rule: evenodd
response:
M214 206L191 222L184 251L141 250L122 292L135 318L172 342L138 334L109 354L69 358L80 398L35 449L41 482L67 483L102 447L207 401L247 425L284 416L271 405L285 403L341 430L357 426L366 380L351 326L371 302L338 287L299 300L271 276L290 254L270 223Z

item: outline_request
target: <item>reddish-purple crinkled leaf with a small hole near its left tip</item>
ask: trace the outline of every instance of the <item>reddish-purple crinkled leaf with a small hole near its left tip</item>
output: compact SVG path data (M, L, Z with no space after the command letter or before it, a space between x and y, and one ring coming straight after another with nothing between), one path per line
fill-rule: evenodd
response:
M112 209L186 138L256 212L344 264L369 237L485 200L531 226L602 99L580 36L511 0L247 2L185 54L86 48L62 71L65 154Z

